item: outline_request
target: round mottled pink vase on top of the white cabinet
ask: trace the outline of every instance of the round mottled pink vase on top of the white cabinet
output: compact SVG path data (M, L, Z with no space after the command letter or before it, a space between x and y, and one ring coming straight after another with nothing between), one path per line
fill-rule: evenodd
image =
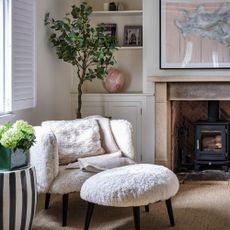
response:
M107 77L103 80L103 86L109 93L120 92L124 87L124 83L123 73L116 68L111 68Z

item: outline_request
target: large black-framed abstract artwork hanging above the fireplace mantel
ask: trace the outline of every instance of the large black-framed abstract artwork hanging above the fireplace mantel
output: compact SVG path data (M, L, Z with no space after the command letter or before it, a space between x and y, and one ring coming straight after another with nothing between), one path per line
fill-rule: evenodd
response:
M160 68L230 68L230 1L160 0Z

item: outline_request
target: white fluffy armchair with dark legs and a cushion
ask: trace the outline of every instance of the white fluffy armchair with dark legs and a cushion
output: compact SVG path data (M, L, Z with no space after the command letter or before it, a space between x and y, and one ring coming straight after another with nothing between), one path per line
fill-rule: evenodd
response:
M94 175L81 169L67 169L66 163L91 154L112 153L117 148L124 156L134 159L132 126L126 120L46 121L34 128L36 144L30 149L30 160L36 169L37 190L46 194L45 209L49 207L51 194L63 195L63 226L67 224L69 193L79 192L85 180ZM93 134L89 130L93 130ZM85 139L83 142L82 138ZM85 149L82 143L89 146L97 143L101 148L93 146Z

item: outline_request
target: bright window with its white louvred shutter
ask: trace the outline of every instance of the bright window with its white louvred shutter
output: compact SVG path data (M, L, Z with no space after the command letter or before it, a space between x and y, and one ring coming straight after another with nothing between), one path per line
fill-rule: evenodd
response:
M35 0L0 0L0 114L35 106Z

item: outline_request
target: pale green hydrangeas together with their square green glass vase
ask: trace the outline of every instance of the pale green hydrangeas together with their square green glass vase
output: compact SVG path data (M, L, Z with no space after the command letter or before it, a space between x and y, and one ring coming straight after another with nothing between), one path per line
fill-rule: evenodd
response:
M29 149L35 142L33 126L18 120L0 126L0 169L13 170L29 164Z

